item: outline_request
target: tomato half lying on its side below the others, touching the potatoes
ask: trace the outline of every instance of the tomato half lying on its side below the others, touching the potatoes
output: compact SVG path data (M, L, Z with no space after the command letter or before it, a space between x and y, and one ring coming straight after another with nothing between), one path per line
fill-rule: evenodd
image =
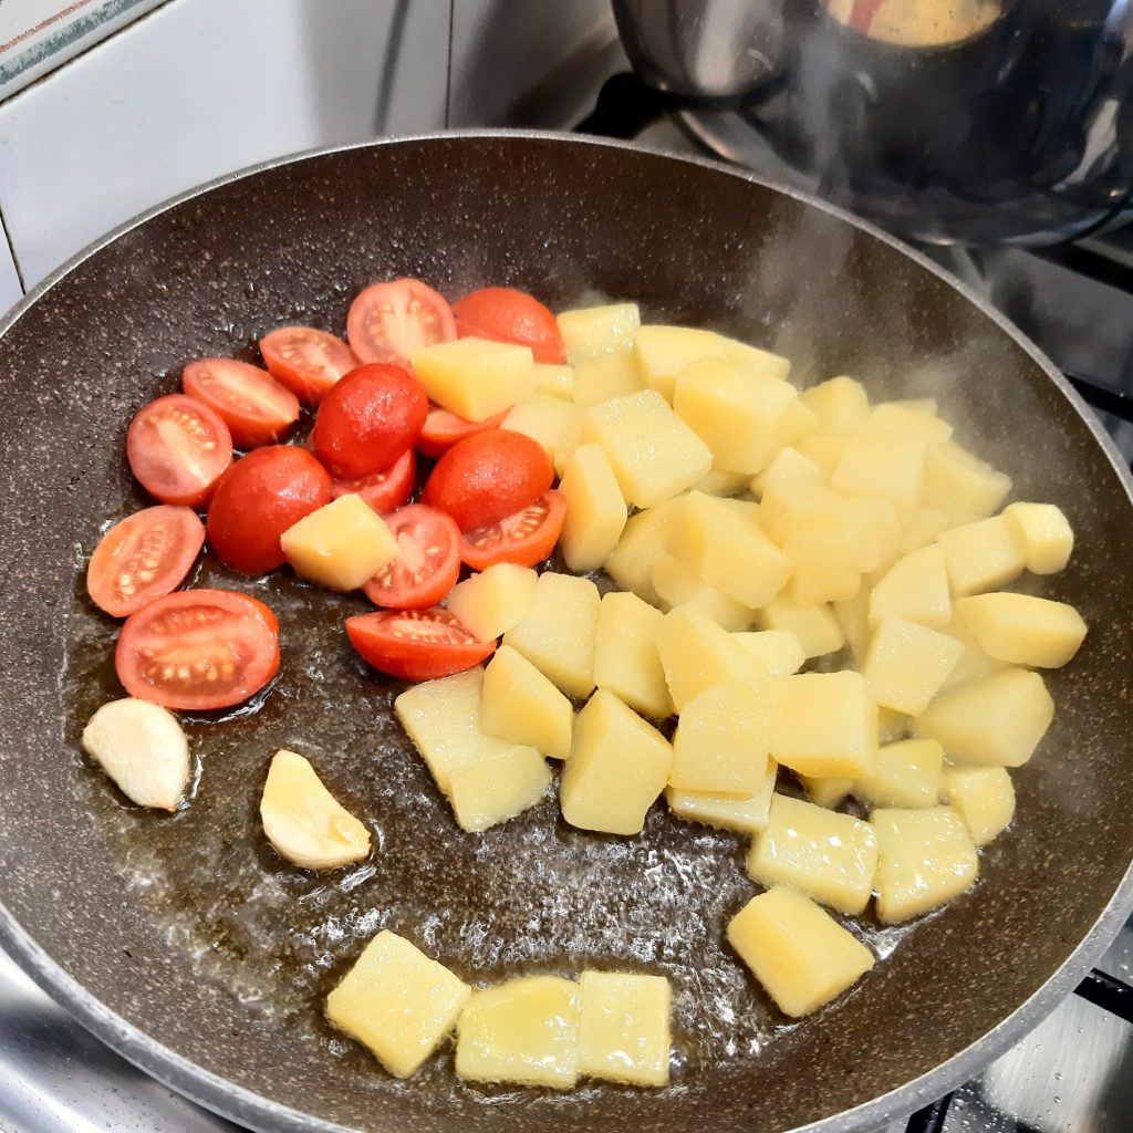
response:
M440 606L378 610L348 617L347 637L364 661L403 681L432 681L462 673L495 649L495 641L478 641Z

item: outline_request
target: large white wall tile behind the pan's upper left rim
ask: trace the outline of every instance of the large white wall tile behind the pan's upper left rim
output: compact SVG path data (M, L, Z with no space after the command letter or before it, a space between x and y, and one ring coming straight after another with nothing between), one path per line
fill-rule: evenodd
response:
M25 282L220 173L443 126L449 18L448 0L171 0L9 99L0 206Z

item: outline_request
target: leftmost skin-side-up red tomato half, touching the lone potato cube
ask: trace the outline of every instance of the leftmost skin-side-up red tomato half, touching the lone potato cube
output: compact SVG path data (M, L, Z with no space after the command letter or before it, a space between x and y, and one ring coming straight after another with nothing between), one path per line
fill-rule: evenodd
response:
M208 545L235 570L263 574L283 563L280 536L331 502L331 474L290 444L241 457L220 479L208 505Z

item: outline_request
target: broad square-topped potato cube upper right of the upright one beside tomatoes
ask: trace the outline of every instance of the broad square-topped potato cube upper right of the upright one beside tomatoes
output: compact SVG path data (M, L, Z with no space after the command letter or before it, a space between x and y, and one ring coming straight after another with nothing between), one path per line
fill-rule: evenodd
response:
M654 390L588 409L582 442L606 450L622 495L636 508L672 499L712 468L708 446Z

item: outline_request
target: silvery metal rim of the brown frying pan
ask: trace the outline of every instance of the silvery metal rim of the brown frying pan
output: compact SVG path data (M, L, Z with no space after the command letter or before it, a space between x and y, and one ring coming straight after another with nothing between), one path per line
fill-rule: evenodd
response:
M1125 495L1128 497L1131 504L1133 504L1133 475L1126 468L1124 459L1109 434L1063 374L1022 331L1014 326L997 309L991 307L986 299L962 280L939 267L922 253L869 221L861 220L843 208L830 205L810 194L800 193L793 188L778 185L774 180L759 177L750 171L738 169L709 157L673 154L658 146L639 145L632 142L600 138L591 135L526 129L477 128L434 130L398 137L370 138L361 142L321 146L314 150L284 154L279 157L256 162L255 164L224 173L194 186L184 193L179 193L138 213L136 216L93 240L45 276L5 317L0 318L0 335L6 334L51 288L60 283L76 267L97 254L102 248L142 227L161 213L199 197L214 188L282 165L297 164L329 154L353 150L378 148L389 145L397 146L406 143L446 143L454 138L527 139L534 142L570 143L572 145L591 146L598 150L631 151L654 157L663 157L667 161L684 162L759 185L798 201L801 204L818 208L867 232L894 250L908 256L921 269L954 288L964 299L973 304L986 317L990 318L1000 332L1011 338L1015 344L1024 350L1030 359L1047 375L1070 402L1094 441L1101 446L1110 467L1117 475L1118 483L1125 491ZM1131 913L1133 913L1133 859L1131 859L1130 866L1126 868L1113 896L1089 931L1056 971L1010 1015L1000 1020L999 1023L974 1042L919 1077L905 1082L903 1085L878 1098L862 1102L853 1109L832 1114L804 1126L798 1126L793 1131L784 1131L784 1133L857 1133L857 1131L874 1128L894 1118L908 1117L910 1113L921 1106L936 1100L961 1085L972 1077L979 1068L994 1060L995 1057L1007 1050L1019 1039L1037 1026L1073 990L1102 954L1111 938L1116 935L1117 929ZM19 966L44 991L69 1011L99 1039L146 1074L205 1108L250 1128L265 1131L265 1133L269 1130L284 1131L284 1133L300 1133L300 1131L301 1133L355 1133L348 1126L313 1117L301 1110L273 1101L245 1087L237 1085L177 1054L140 1028L129 1023L117 1012L111 1011L102 1000L56 963L3 904L0 904L0 946L11 955Z

